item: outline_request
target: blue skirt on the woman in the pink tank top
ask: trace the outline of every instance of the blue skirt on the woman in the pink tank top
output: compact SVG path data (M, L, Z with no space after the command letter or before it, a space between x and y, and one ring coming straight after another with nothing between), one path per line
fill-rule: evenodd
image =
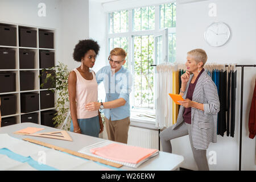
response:
M92 137L98 137L98 134L100 134L100 121L98 115L93 118L77 119L77 122L79 123L81 134L89 135ZM74 131L72 120L70 131Z

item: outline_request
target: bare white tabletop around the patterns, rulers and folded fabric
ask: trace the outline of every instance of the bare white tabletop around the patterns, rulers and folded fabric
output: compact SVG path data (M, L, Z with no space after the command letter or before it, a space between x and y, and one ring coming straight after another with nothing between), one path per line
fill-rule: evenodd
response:
M96 142L101 142L104 139L101 138L96 138L96 137L90 137L88 135L83 135L83 134L77 134L68 131L68 134L71 136L73 139L73 142L69 142L66 140L59 140L59 139L51 139L51 138L42 138L42 137L31 137L28 135L16 135L13 134L15 131L25 129L27 127L39 127L39 128L44 128L43 131L39 131L38 133L46 133L46 132L53 132L53 131L60 131L59 129L55 129L52 127L48 126L43 126L43 125L38 125L35 123L19 123L16 125L11 125L11 126L5 126L5 127L0 127L0 134L9 134L11 137L15 138L31 138L35 140L39 140L41 142L46 142L49 144L53 144L58 147L63 147L67 148L69 150L73 151L79 151L81 148L85 146L89 146L90 144L96 143ZM181 155L176 155L176 154L170 154L167 152L159 152L159 155L155 156L154 158L148 160L147 162L143 163L141 166L138 168L130 168L126 166L122 166L121 169L124 170L138 170L138 171L170 171L170 170L175 170L179 168L180 164L183 162L184 158Z

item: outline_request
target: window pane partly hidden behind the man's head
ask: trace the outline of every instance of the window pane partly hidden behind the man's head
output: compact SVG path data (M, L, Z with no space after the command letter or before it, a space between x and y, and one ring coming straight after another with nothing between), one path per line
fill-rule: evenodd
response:
M109 39L109 50L112 51L112 49L116 47L121 47L127 52L126 63L123 65L123 67L128 68L128 38Z

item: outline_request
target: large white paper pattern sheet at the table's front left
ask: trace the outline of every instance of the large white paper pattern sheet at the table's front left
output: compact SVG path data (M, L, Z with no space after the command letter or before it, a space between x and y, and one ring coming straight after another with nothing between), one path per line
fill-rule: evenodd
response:
M108 170L103 164L97 164L91 160L16 139L10 137L8 134L0 134L0 149L1 148L7 148L7 150L24 157L30 156L37 164L38 162L46 162L46 166L59 170ZM42 160L44 157L45 160ZM0 164L0 170L36 170L28 163L19 162L2 154L0 154Z

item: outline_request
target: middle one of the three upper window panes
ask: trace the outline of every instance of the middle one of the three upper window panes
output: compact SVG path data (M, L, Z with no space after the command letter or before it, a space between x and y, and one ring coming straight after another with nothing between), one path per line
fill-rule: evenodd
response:
M152 30L155 28L155 6L133 10L133 30Z

